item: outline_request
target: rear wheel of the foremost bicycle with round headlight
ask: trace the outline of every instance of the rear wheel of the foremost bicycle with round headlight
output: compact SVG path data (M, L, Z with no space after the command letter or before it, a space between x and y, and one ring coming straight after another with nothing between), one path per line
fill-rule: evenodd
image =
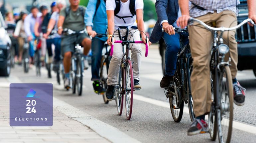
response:
M214 83L213 79L215 79L214 75L211 75L211 98L212 98L212 101L214 101L214 102L211 105L211 110L210 110L209 117L208 117L208 127L209 127L210 139L212 141L215 141L216 137L217 137L217 116L216 116L216 112L215 112L216 98L214 95L215 83Z

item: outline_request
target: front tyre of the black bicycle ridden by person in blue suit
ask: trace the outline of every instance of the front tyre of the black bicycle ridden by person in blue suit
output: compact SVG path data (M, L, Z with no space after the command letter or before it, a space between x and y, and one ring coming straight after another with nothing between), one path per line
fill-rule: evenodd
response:
M193 98L192 98L192 93L191 93L191 73L193 71L193 61L192 57L189 57L188 60L188 66L187 66L187 95L188 95L188 107L189 107L189 114L190 114L190 119L191 122L194 121L195 115L194 115L194 110L193 110Z

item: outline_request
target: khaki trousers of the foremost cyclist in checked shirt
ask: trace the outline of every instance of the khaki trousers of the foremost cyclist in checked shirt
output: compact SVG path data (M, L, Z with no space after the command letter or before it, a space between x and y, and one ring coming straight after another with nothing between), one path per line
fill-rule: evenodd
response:
M223 11L219 14L208 13L204 16L197 17L209 26L212 22L216 23L216 27L233 27L237 25L237 18L232 11ZM199 26L199 27L198 27ZM191 88L193 98L193 109L195 117L206 115L210 112L211 106L211 85L210 85L210 53L212 47L212 32L202 28L202 26L194 22L189 26L190 46L193 58L193 72L191 75ZM235 40L235 31L225 31L223 33L224 44L229 46L230 51L230 70L232 78L237 73L237 43ZM225 60L228 60L225 55Z

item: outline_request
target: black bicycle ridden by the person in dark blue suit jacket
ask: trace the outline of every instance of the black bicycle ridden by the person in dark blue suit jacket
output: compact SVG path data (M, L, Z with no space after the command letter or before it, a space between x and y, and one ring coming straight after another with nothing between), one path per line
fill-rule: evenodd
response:
M187 29L175 28L175 33L188 32ZM162 29L164 32L164 29ZM189 38L189 37L188 37ZM166 92L166 98L169 98L169 104L173 120L180 122L183 116L184 102L189 106L190 119L193 121L195 115L193 112L193 99L191 95L190 76L193 70L193 60L190 52L190 45L184 45L180 38L180 50L177 54L176 71L174 81L170 84Z

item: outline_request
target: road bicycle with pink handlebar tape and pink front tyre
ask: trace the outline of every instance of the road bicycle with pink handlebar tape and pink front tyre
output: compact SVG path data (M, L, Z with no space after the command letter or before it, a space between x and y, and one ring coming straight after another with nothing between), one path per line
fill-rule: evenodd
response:
M128 30L128 29L127 29ZM145 56L148 56L148 44L149 39L146 37L146 53ZM117 112L118 115L122 114L123 110L123 95L125 94L125 109L126 109L126 118L127 120L131 119L132 116L132 105L133 105L133 91L134 89L134 83L133 83L133 68L132 64L133 61L130 58L130 44L140 44L143 43L143 41L130 41L130 40L117 40L114 41L114 36L112 36L112 43L121 43L126 45L126 52L124 52L124 46L123 46L123 58L121 61L120 71L117 74L117 84L115 86L115 92L114 96L116 96L116 102L117 102ZM113 48L114 45L111 45L111 51L110 56L113 55Z

